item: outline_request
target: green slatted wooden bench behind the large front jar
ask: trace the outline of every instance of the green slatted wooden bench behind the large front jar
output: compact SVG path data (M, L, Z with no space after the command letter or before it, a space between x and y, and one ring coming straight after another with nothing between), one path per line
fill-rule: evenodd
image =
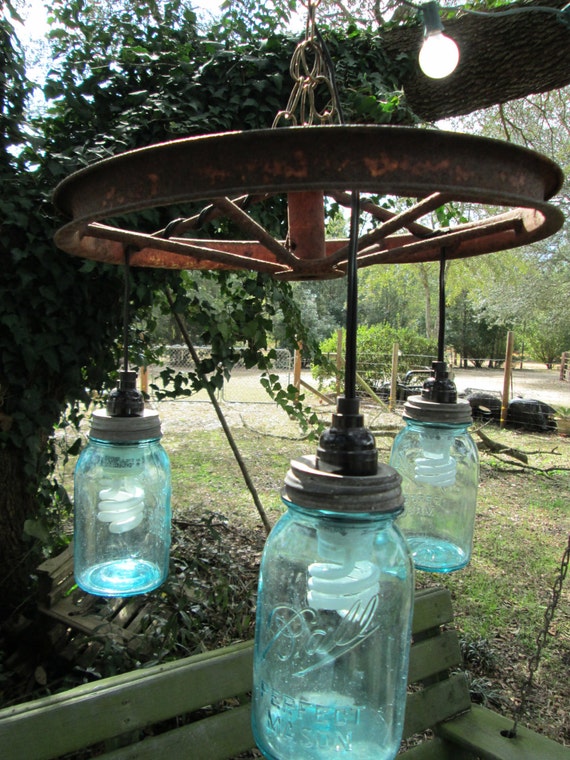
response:
M406 760L562 760L570 749L471 705L449 592L416 594L404 737L434 736ZM2 760L49 760L93 748L106 760L223 760L254 746L253 645L136 670L0 711ZM72 755L71 755L72 756ZM89 757L83 754L81 757ZM302 757L295 760L303 760Z

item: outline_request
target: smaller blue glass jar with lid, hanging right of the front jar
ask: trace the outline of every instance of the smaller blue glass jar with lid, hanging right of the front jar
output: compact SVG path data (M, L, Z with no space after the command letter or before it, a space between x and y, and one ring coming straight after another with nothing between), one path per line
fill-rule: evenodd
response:
M398 525L418 570L459 570L471 559L479 486L471 407L411 396L404 420L390 457L406 503Z

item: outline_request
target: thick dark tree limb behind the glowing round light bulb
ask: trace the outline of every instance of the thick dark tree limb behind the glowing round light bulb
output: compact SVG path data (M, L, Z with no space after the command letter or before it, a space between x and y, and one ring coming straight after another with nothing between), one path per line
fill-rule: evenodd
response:
M459 13L444 20L445 34L457 42L461 55L457 69L446 79L429 79L420 71L420 24L385 32L391 57L407 53L415 61L402 83L408 104L420 118L436 121L570 84L568 24L540 11L500 15L501 10L517 5L560 9L566 3L535 0L501 6L495 18Z

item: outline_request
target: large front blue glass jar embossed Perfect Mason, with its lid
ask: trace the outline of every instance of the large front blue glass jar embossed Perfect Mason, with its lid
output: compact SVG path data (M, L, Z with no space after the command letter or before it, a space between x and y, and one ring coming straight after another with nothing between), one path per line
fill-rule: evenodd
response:
M403 728L413 565L386 465L291 463L261 562L253 731L271 760L392 760Z

